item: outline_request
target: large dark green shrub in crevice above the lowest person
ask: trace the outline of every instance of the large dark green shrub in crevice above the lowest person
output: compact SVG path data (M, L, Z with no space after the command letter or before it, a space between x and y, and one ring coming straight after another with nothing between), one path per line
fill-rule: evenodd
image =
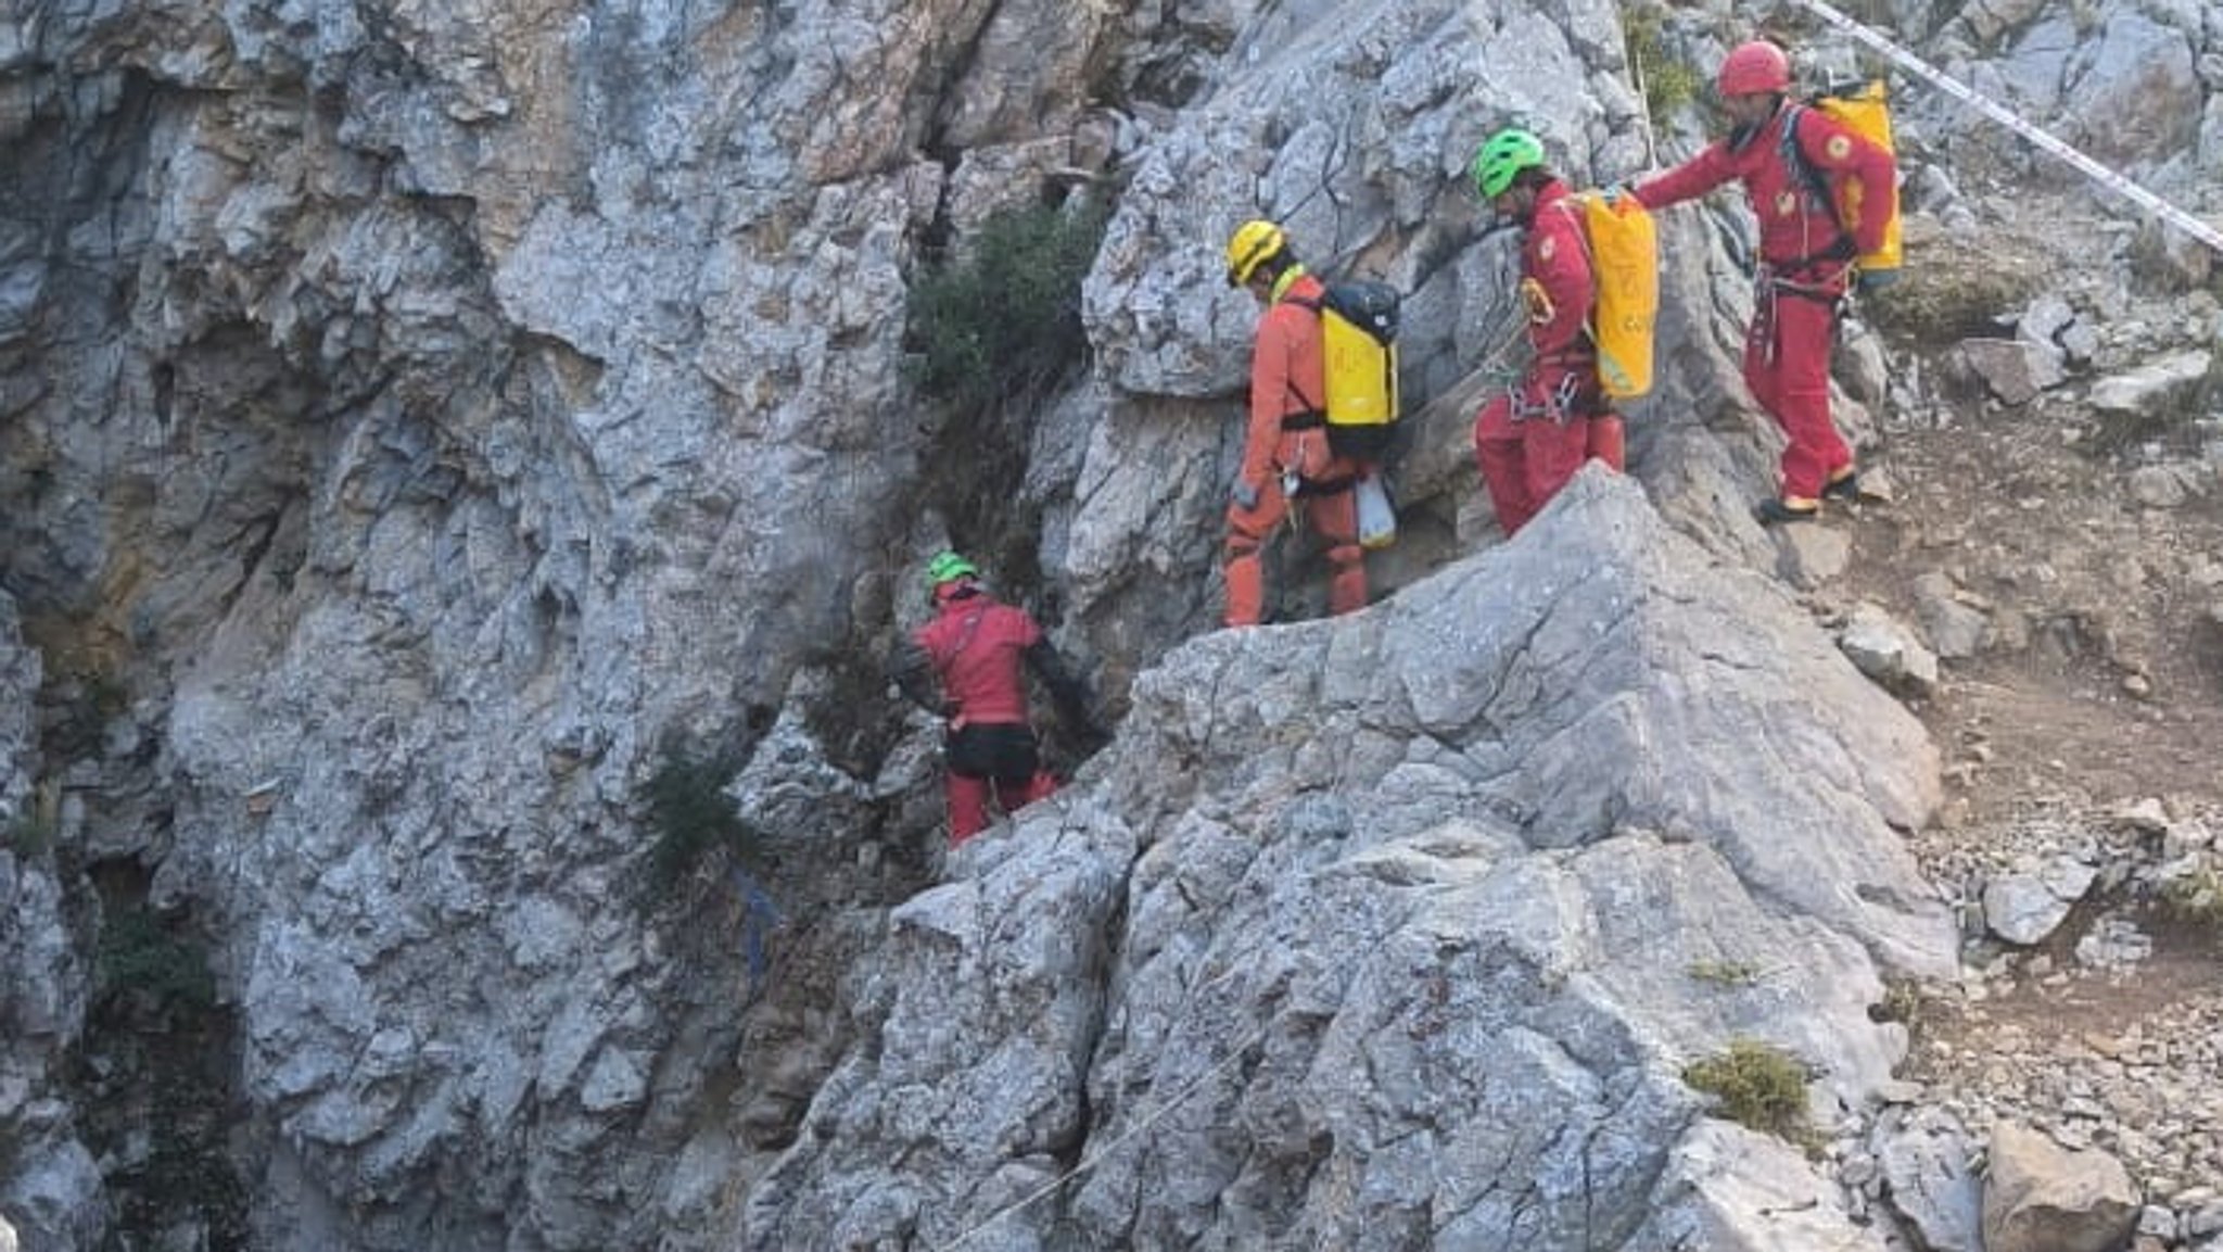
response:
M1087 351L1080 280L1103 242L1100 209L1009 209L911 285L920 391L978 407L1040 391Z

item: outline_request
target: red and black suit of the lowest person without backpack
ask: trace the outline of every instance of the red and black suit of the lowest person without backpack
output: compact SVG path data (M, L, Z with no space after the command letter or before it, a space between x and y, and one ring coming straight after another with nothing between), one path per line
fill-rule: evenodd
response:
M987 801L1018 812L1058 789L1038 767L1020 660L1043 640L1043 627L976 587L938 600L934 620L911 634L943 685L949 734L947 763L949 843L987 829Z

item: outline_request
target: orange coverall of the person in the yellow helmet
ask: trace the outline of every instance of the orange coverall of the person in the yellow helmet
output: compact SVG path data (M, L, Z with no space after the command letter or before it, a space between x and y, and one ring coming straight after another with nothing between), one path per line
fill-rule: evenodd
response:
M1292 507L1280 487L1283 471L1296 471L1303 480L1296 507L1327 540L1327 560L1336 567L1327 585L1329 612L1349 614L1367 605L1358 500L1352 494L1360 467L1327 447L1320 420L1320 405L1327 403L1320 316L1298 302L1318 302L1323 294L1318 278L1292 269L1274 289L1274 302L1258 316L1240 478L1258 491L1258 503L1249 509L1240 500L1227 507L1227 625L1258 625L1265 612L1260 549Z

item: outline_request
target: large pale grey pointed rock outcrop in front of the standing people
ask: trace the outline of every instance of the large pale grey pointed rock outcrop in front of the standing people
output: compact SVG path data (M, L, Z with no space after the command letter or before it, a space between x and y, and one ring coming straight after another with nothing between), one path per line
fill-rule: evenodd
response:
M1801 618L1592 471L1367 614L1174 652L891 914L745 1245L940 1245L1080 1161L983 1243L1656 1248L1827 1192L1676 1079L1756 1036L1858 1105L1878 961L1952 967L1892 829L1934 754Z

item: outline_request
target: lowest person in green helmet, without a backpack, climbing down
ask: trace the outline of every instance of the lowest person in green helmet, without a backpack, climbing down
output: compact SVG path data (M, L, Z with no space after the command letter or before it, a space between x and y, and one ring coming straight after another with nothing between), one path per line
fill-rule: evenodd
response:
M980 569L956 552L927 563L934 618L911 632L889 678L916 705L945 721L943 765L949 801L949 845L987 829L989 801L1014 814L1058 789L1043 767L1027 718L1020 669L1049 689L1058 721L1089 745L1107 734L1089 712L1089 692L1043 636L1034 616L1005 605L980 583Z

